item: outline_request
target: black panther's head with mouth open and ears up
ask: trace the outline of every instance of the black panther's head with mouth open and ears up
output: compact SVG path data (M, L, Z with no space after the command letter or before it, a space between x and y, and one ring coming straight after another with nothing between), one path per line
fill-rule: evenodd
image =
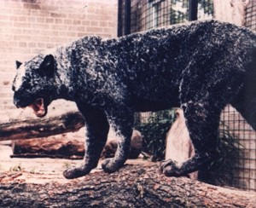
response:
M17 73L13 82L16 107L32 107L38 117L47 114L55 91L55 58L38 55L24 64L16 61Z

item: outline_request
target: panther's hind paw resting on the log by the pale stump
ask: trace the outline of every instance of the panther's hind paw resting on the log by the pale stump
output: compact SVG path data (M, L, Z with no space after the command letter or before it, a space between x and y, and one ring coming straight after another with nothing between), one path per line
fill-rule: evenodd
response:
M169 177L170 176L176 176L176 177L183 176L183 174L177 167L177 164L174 161L172 161L172 159L168 159L168 160L164 161L160 165L160 171Z

